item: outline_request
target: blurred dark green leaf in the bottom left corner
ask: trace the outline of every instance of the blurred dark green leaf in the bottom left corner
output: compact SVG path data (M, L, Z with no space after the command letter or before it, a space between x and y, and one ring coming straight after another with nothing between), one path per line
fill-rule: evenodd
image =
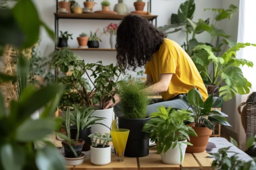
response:
M18 145L5 144L0 148L0 161L4 170L22 170L25 157L25 150Z

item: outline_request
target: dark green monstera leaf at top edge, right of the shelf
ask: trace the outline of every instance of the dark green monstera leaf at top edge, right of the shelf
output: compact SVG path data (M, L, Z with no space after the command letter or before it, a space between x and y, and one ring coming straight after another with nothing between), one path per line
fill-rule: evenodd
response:
M186 21L187 18L192 20L195 9L196 5L194 0L187 0L180 4L180 8L178 9L178 19L182 22Z

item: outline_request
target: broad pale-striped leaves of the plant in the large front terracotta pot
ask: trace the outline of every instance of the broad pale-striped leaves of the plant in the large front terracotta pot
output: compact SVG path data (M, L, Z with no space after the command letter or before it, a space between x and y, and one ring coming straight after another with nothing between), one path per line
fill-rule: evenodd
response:
M180 95L180 98L182 98L182 100L184 100L192 109L194 113L192 114L192 117L194 118L196 127L205 126L213 131L214 125L212 122L231 126L224 117L227 117L226 114L218 109L211 110L212 107L217 106L221 102L221 99L213 97L213 94L211 94L204 102L200 92L196 89L191 89L188 94Z

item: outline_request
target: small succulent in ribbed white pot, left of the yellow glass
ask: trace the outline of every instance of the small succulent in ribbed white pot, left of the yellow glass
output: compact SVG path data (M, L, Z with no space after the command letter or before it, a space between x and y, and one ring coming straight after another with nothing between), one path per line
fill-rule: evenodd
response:
M94 165L107 165L111 162L111 146L109 145L109 133L102 135L101 133L94 133L89 135L92 139L91 146L91 162Z

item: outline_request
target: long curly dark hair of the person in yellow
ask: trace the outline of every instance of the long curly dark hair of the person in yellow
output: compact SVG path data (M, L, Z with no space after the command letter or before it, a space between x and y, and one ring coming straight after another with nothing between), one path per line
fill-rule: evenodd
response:
M122 68L141 67L159 50L166 34L136 15L124 17L116 32L116 59Z

